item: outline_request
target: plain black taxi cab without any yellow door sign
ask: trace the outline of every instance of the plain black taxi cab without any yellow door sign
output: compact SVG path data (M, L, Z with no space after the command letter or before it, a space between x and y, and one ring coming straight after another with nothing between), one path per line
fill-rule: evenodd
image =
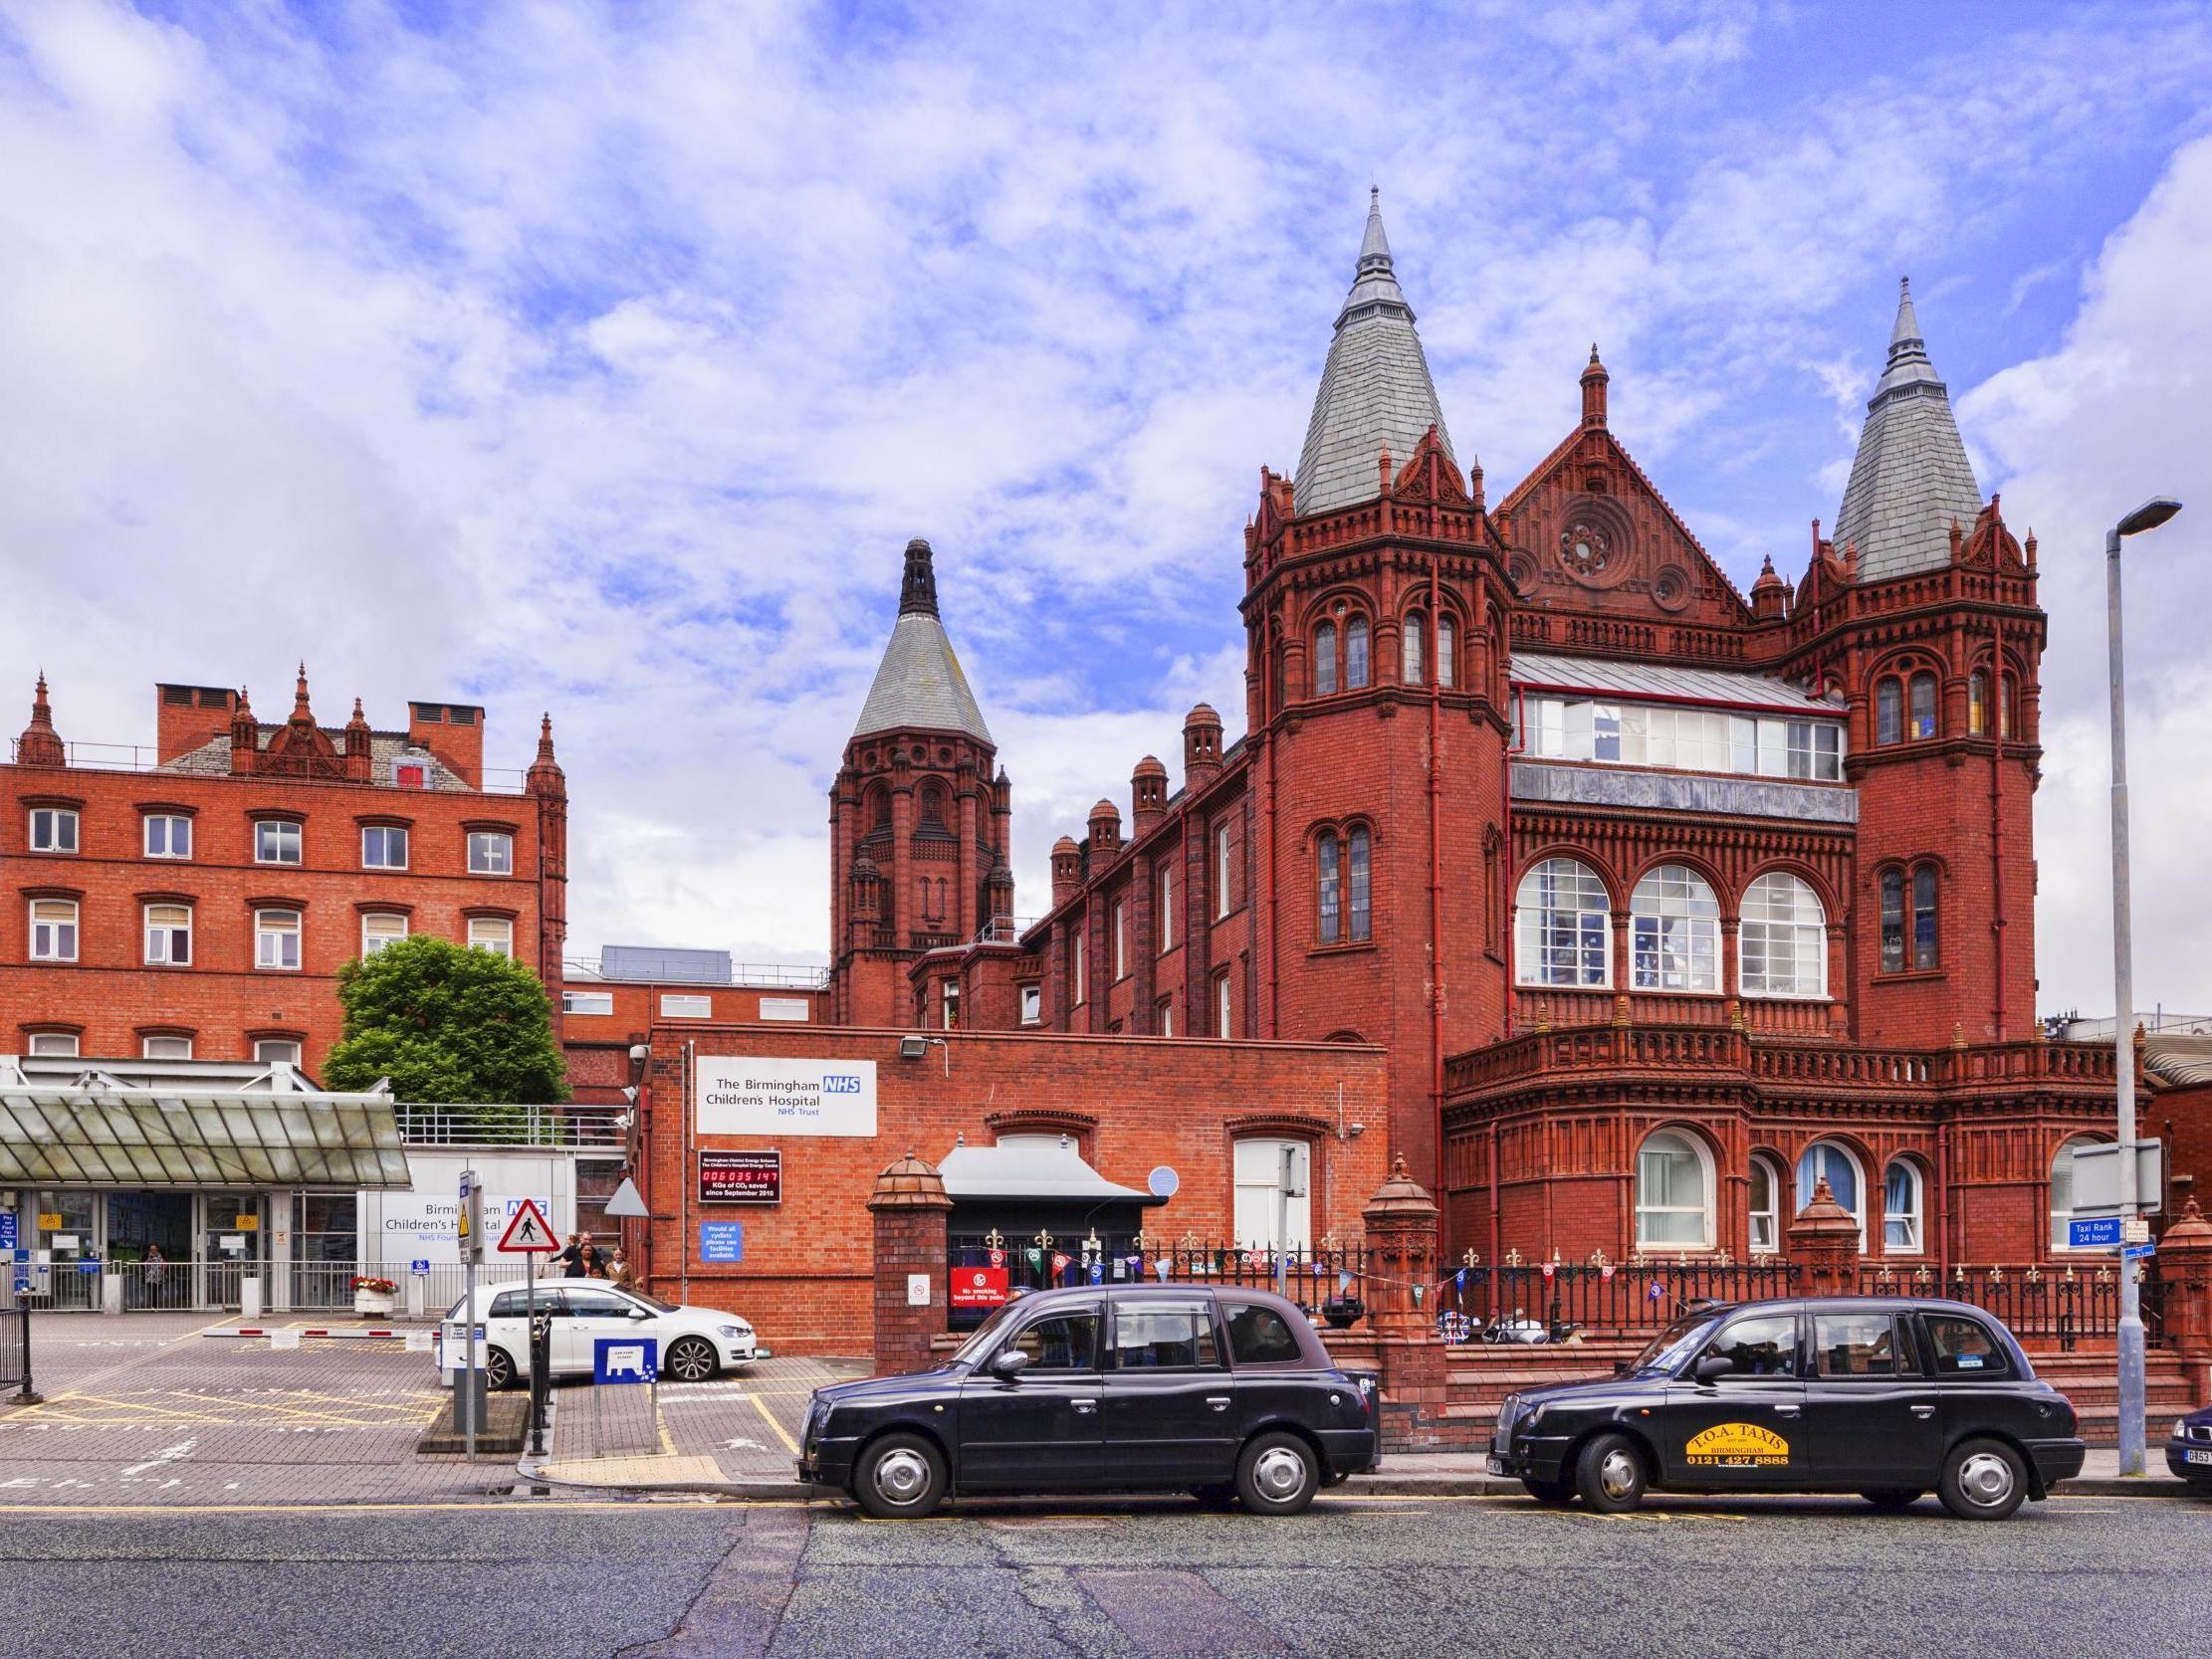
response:
M1378 1458L1374 1376L1283 1296L1093 1285L1006 1303L936 1369L814 1389L799 1478L869 1515L960 1493L1186 1489L1294 1515Z

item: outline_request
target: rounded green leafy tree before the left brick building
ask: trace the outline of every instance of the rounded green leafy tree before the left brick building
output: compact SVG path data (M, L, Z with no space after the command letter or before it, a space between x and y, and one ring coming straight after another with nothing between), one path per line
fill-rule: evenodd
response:
M568 1099L553 1002L522 962L416 933L338 969L336 1091L392 1079L400 1099L509 1106Z

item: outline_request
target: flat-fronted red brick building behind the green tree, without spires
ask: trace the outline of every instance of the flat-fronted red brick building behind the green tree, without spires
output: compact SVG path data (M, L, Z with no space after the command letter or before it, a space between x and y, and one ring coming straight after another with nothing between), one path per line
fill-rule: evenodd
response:
M155 745L64 741L44 677L0 765L0 1048L288 1060L341 1035L336 973L407 933L557 987L568 787L544 721L520 776L484 772L484 710L361 701L259 721L243 690L157 686ZM66 708L62 710L66 723Z

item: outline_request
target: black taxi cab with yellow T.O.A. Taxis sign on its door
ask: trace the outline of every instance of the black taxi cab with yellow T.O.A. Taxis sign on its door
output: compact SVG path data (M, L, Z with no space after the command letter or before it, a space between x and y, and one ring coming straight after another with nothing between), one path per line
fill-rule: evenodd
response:
M1515 1394L1491 1473L1546 1504L1635 1509L1646 1491L1929 1489L2004 1520L2081 1473L2075 1409L1966 1303L1840 1296L1701 1305L1619 1376Z

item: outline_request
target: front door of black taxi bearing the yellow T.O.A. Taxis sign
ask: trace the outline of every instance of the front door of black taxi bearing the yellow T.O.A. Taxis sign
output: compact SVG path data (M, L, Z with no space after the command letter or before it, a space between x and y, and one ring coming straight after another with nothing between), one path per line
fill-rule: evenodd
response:
M1796 1307L1736 1314L1666 1387L1655 1411L1666 1486L1739 1491L1812 1475ZM1728 1369L1699 1383L1703 1360Z

